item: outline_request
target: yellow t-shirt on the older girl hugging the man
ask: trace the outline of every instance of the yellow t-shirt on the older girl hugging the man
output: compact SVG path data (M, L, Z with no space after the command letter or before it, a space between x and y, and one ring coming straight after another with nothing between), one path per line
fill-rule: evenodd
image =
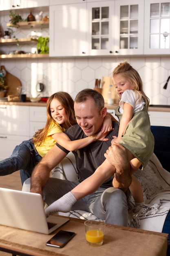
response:
M44 140L44 142L41 143L40 146L37 146L37 144L35 143L35 148L38 152L38 154L41 157L44 157L44 155L46 155L46 153L55 145L56 141L55 139L53 139L52 135L58 132L65 132L65 128L62 128L60 126L60 124L58 124L57 122L54 123L53 121L51 121L51 124L49 126L49 130L47 132L47 136L46 139Z

